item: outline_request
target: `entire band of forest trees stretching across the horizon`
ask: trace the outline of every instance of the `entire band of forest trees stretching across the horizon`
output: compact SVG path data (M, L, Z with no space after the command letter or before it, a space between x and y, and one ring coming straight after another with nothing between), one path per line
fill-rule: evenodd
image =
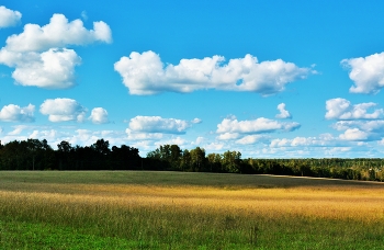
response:
M382 182L383 166L382 158L242 159L239 151L206 154L204 148L182 150L178 145L161 145L146 157L140 157L137 148L126 145L111 148L104 139L84 147L64 140L56 150L46 139L0 143L0 170L167 170Z

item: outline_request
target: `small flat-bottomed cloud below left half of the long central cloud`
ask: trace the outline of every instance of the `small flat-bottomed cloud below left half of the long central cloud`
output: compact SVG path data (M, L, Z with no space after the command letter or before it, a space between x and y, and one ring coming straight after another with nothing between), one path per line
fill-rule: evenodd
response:
M185 134L189 127L187 121L160 116L136 116L129 122L129 129L136 133Z

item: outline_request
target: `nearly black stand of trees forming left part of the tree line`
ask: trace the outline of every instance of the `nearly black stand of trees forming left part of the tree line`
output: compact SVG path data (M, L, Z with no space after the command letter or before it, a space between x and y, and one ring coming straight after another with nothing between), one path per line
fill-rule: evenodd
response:
M110 148L99 139L91 146L61 141L54 150L46 139L13 140L0 145L0 170L127 170L138 169L138 149L122 145Z

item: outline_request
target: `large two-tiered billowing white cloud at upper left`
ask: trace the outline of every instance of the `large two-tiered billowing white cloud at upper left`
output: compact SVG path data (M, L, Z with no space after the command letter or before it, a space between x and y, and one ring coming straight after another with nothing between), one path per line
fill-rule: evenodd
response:
M23 33L9 36L0 49L0 64L15 68L12 77L19 84L67 89L76 84L75 67L81 58L66 46L94 42L112 42L106 23L94 22L93 30L87 30L81 20L68 22L54 14L44 26L26 24Z

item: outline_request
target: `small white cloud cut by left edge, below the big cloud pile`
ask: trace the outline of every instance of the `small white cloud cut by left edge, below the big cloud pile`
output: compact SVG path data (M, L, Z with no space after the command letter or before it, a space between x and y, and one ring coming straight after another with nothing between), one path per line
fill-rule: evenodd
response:
M0 121L2 122L34 122L35 118L33 113L35 106L29 104L27 106L20 107L19 105L9 104L1 109L0 111Z

